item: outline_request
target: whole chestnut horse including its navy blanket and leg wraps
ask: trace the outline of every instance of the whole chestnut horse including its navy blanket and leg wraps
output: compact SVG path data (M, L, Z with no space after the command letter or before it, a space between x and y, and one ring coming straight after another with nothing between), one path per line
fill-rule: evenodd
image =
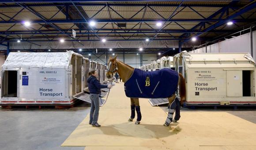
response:
M185 95L186 95L185 80L180 73L178 73L177 71L173 71L169 68L164 68L158 71L150 71L150 72L142 71L140 69L133 68L128 64L124 64L123 62L117 60L117 56L110 57L107 66L108 66L108 70L106 72L106 77L108 79L112 79L115 72L117 72L120 75L120 78L124 82L124 90L125 90L126 96L130 97L131 99L131 116L128 119L128 121L133 121L133 119L135 118L135 110L136 110L137 120L135 124L140 124L142 116L140 112L139 98L167 97L169 101L169 105L168 105L169 112L168 112L166 121L163 125L169 126L171 122L177 122L177 120L180 119L181 117L180 107L181 105L183 105L183 102L185 101ZM141 74L141 75L137 75L137 74ZM135 77L136 75L137 77ZM154 81L154 79L156 81ZM163 81L160 83L161 80ZM168 85L170 87L168 87ZM179 98L176 97L176 94L175 94L175 92L178 89L178 86L179 86L179 95L181 100L179 100ZM156 92L155 90L159 88L160 88L160 91ZM150 92L148 92L147 89L151 89ZM173 118L174 111L175 111L175 117Z

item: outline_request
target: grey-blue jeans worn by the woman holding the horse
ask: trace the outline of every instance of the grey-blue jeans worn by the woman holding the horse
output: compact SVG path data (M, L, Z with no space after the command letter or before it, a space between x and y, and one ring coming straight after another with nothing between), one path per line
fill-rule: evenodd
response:
M99 116L99 94L90 94L90 123L96 124Z

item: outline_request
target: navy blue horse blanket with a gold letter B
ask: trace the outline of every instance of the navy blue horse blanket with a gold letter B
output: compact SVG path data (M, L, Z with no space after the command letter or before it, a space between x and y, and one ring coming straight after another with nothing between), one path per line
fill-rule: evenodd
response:
M177 90L179 75L177 71L163 68L157 71L134 69L132 76L124 83L127 97L166 98Z

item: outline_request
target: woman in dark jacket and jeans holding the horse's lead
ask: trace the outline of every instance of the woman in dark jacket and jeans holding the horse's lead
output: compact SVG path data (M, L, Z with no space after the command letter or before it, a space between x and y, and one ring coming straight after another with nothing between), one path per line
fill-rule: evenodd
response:
M98 73L95 70L92 70L89 72L89 77L87 79L88 82L88 88L90 91L90 121L89 124L91 124L93 127L100 127L101 125L98 124L98 116L99 116L99 94L101 93L101 89L103 88L111 88L112 85L103 85L101 84L98 79Z

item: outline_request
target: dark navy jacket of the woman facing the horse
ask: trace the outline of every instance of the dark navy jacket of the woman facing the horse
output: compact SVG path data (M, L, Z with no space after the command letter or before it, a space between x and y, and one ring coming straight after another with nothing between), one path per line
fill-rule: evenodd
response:
M108 87L107 85L102 85L99 80L92 75L89 76L87 82L89 83L88 88L91 94L100 94L101 89Z

